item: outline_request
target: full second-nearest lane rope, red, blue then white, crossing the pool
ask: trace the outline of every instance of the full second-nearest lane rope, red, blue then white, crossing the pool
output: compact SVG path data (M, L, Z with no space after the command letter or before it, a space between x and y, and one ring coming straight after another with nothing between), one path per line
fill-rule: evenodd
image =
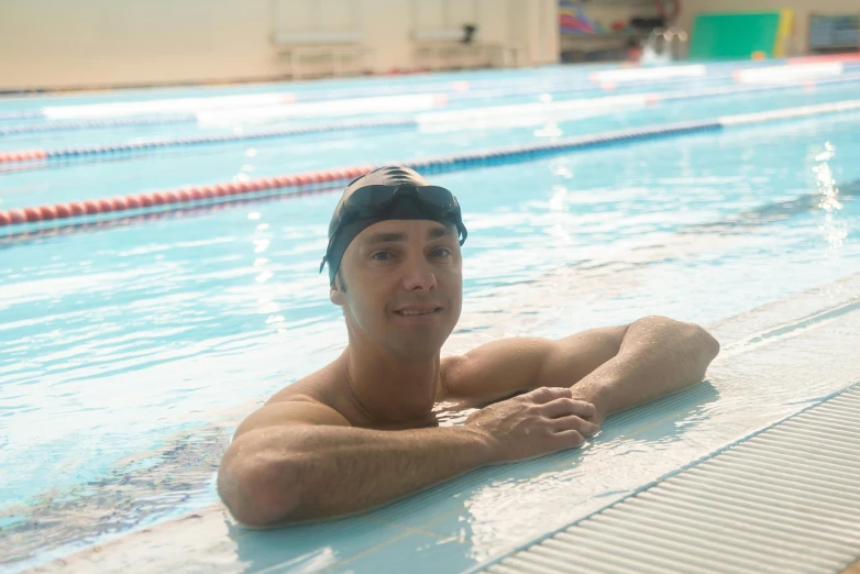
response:
M153 140L150 142L136 142L117 145L99 145L89 147L67 147L60 150L13 150L0 152L0 165L7 164L10 167L0 169L0 172L23 172L30 169L42 169L48 166L51 162L69 162L76 159L97 159L101 157L113 159L117 155L132 155L147 152L169 150L173 147L191 147L197 145L212 145L222 143L234 143L252 140L290 137L306 135L311 133L337 132L345 130L379 130L397 128L438 128L440 124L450 123L462 126L463 122L498 120L499 118L521 118L523 114L538 113L580 113L599 111L614 107L638 107L658 103L666 100L695 99L715 96L735 96L742 93L754 93L760 91L773 91L797 88L809 88L816 85L848 84L860 81L859 75L839 77L835 79L824 79L817 82L807 81L801 85L780 85L780 86L749 86L749 87L721 87L708 88L703 90L687 90L681 92L659 93L632 93L625 96L605 96L598 98L585 98L576 100L550 101L540 103L519 103L512 106L495 106L476 110L455 110L442 112L426 112L412 118L401 120L382 120L364 122L340 122L330 124L320 124L308 128L291 128L286 130L267 130L261 132L249 132L244 134L228 135L205 135L195 137L181 137L174 140ZM1 131L0 131L1 133Z

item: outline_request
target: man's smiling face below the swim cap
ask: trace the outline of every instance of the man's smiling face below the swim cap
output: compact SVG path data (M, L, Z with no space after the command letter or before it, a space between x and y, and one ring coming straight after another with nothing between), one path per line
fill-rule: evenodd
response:
M340 275L345 291L335 282L331 300L343 307L350 328L403 356L437 355L460 319L460 242L439 222L371 225L346 249Z

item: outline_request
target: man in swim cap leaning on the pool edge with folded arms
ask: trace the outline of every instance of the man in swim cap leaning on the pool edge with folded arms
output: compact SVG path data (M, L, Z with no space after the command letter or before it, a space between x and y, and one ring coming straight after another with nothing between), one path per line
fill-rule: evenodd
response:
M440 360L460 318L465 239L456 199L409 168L346 187L323 265L349 344L236 430L218 487L238 520L356 512L478 466L580 446L607 415L702 380L719 352L695 324L646 317ZM464 424L439 427L442 408L475 406Z

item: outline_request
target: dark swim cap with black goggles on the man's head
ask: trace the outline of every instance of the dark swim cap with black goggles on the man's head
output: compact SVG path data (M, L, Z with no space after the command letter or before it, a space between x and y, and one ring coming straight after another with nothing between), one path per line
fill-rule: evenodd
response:
M349 202L350 198L355 191L370 186L390 188L387 194L381 194L389 199L382 201L381 206L384 207L374 211L373 201L367 203L367 198L363 198L363 209L355 209ZM400 186L412 188L415 192L398 196L395 190ZM365 195L366 191L363 191L360 196ZM382 191L386 190L382 189ZM430 200L425 199L425 196L430 198ZM443 200L448 201L448 203L443 203ZM357 213L356 211L361 212ZM353 179L343 190L343 196L338 201L332 213L331 222L329 223L329 246L326 251L326 256L322 258L320 272L328 262L329 283L333 284L346 247L362 231L381 221L411 219L427 219L439 221L443 224L454 223L462 236L461 245L465 241L466 229L460 216L460 205L456 198L444 188L431 186L415 169L386 166Z

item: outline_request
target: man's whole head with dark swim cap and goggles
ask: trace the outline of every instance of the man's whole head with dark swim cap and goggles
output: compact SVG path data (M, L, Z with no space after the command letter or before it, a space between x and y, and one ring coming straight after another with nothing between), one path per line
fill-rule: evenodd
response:
M410 357L439 353L462 305L456 199L407 167L353 180L329 227L331 300L351 338Z

